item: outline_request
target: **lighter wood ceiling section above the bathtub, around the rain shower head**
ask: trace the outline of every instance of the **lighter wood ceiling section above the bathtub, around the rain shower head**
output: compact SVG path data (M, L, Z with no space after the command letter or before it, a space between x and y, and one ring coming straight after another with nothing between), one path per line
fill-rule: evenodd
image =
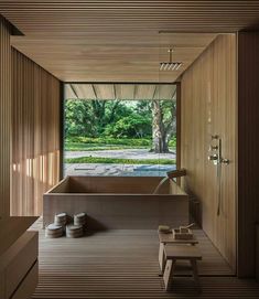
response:
M67 38L44 36L36 41L29 34L13 38L12 45L64 82L172 83L215 36L214 33L159 32L136 36L83 31ZM160 72L160 63L169 62L168 50L172 45L172 60L182 65L175 71ZM112 90L110 94L112 97Z

